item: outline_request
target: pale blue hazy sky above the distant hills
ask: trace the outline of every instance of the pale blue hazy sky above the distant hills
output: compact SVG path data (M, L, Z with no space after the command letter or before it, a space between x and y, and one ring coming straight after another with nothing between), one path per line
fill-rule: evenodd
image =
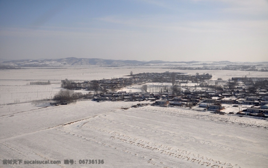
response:
M268 61L268 0L0 0L0 58Z

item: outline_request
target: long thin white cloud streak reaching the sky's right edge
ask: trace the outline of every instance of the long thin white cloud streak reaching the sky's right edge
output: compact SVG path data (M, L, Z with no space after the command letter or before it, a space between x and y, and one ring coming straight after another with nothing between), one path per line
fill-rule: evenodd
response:
M161 16L159 16L161 17ZM166 16L168 17L168 16ZM150 29L151 31L185 31L185 32L235 32L258 30L267 32L268 20L223 20L223 21L179 21L163 23L155 17L129 18L121 16L107 16L98 18L99 21L122 24L131 27ZM159 20L159 19L158 19Z

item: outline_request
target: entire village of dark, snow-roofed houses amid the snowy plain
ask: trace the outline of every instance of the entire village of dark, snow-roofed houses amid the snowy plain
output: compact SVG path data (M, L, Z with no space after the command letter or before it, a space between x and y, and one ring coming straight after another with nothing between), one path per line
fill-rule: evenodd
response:
M86 89L93 101L152 101L152 106L184 107L225 114L226 106L236 107L229 114L268 116L266 78L232 77L211 80L212 75L196 73L139 73L129 78L101 79L84 82L62 80L66 89ZM139 91L131 86L139 85ZM129 89L122 89L129 88ZM134 87L132 87L134 88ZM140 104L140 103L139 103ZM242 108L242 105L244 109ZM245 108L246 107L246 108Z

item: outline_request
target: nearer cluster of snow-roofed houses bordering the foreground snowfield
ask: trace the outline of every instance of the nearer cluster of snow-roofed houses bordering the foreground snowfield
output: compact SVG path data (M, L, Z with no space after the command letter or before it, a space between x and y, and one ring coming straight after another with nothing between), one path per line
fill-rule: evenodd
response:
M251 105L247 110L240 111L240 114L247 113L263 113L268 114L268 95L267 96L250 96L236 97L235 93L221 93L218 97L211 98L211 93L217 91L193 91L190 94L182 94L180 96L172 93L149 93L149 92L107 92L99 95L95 101L154 101L152 105L160 107L199 107L203 110L211 110L220 112L224 109L224 104ZM214 96L214 95L213 95ZM235 105L236 106L236 105Z

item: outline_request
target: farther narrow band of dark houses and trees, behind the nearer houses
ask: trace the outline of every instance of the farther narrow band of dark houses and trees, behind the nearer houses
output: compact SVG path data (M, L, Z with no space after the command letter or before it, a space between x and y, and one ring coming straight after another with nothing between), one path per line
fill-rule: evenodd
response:
M72 80L62 80L62 87L66 89L86 89L106 92L107 90L114 91L116 89L130 86L133 84L147 83L147 82L168 82L176 81L179 83L188 83L189 81L202 81L211 79L212 75L186 75L180 72L164 72L164 73L139 73L131 75L129 78L114 78L101 79L84 82L75 82Z

